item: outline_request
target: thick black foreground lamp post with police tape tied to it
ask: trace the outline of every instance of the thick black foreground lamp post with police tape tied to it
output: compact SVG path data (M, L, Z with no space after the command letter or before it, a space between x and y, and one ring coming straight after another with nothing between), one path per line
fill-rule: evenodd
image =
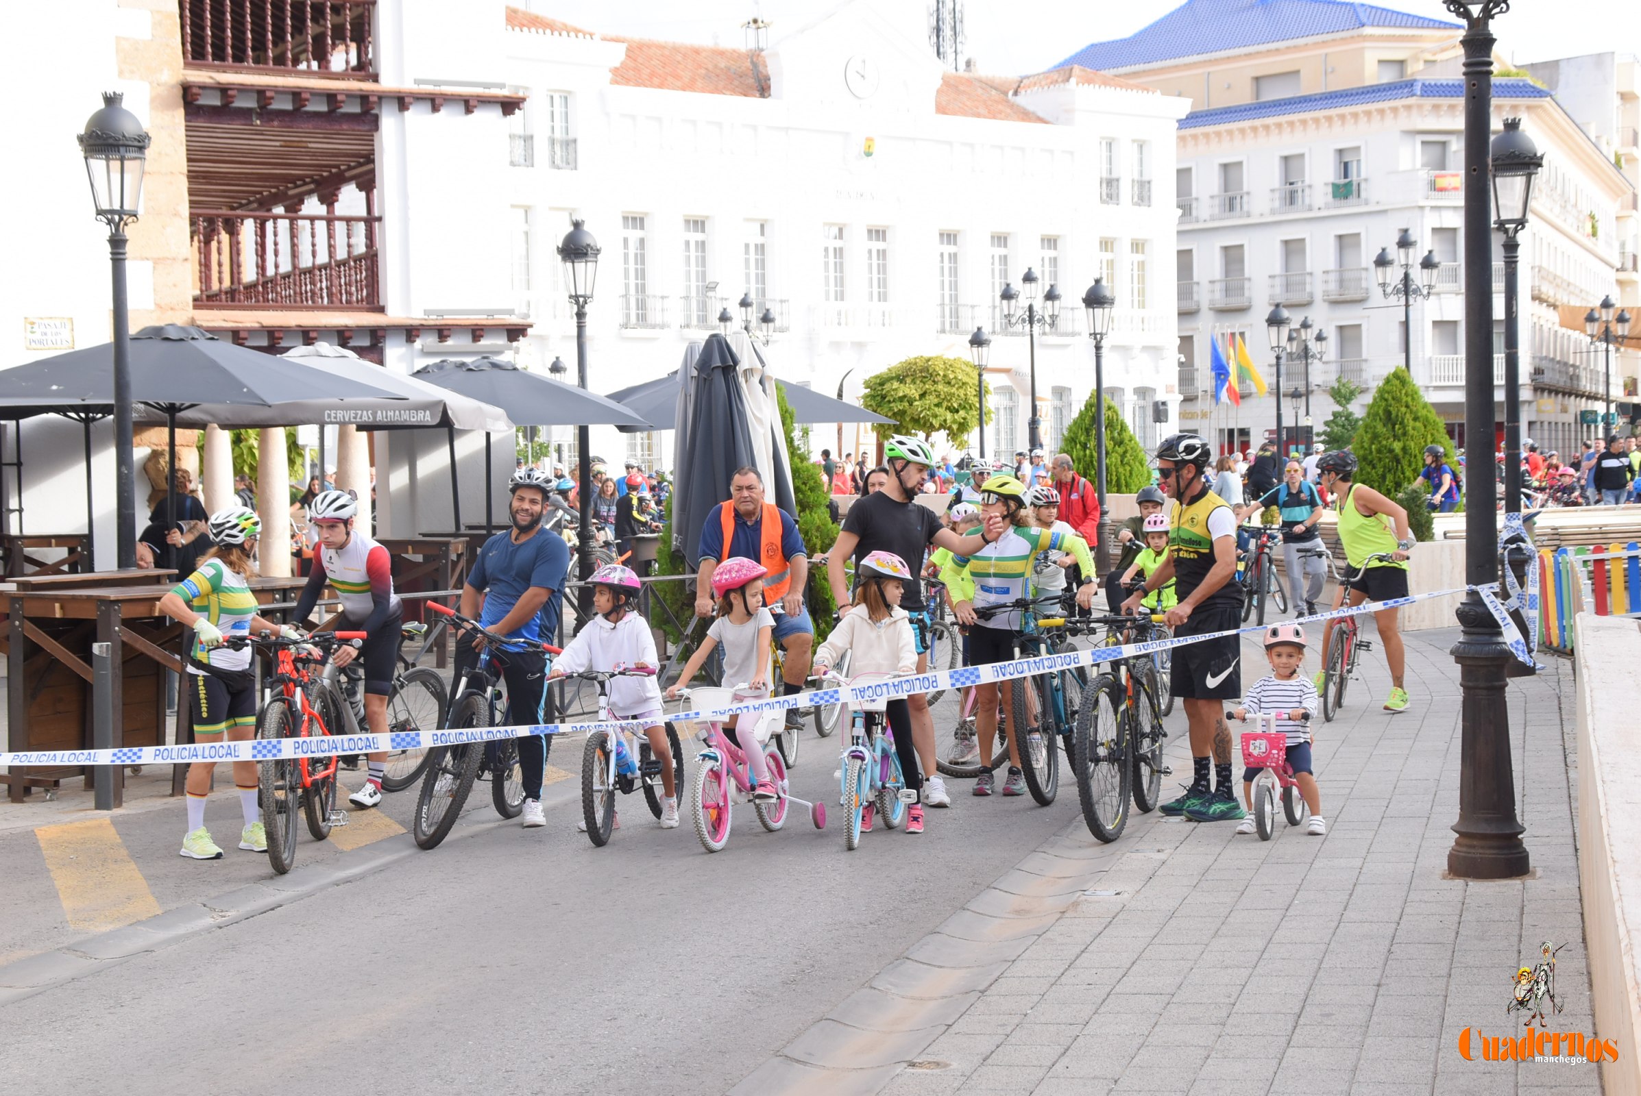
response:
M1464 433L1470 453L1493 445L1492 203L1487 177L1493 110L1492 18L1508 0L1444 0L1464 31ZM1510 707L1505 702L1510 648L1477 587L1498 581L1495 482L1470 476L1464 505L1464 573L1470 592L1459 605L1464 628L1452 648L1462 692L1459 820L1447 871L1465 879L1526 875L1529 856L1516 820L1510 761ZM1531 642L1531 640L1529 640Z

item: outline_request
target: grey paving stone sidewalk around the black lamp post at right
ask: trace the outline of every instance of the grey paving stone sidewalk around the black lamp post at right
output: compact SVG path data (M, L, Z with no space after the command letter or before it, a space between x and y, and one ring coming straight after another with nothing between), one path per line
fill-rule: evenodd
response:
M1408 712L1380 709L1388 673L1374 651L1336 722L1318 724L1326 837L1278 822L1260 842L1150 814L1099 845L1078 822L734 1091L1598 1093L1597 1066L1483 1062L1475 1039L1521 1030L1505 1006L1541 940L1567 943L1551 1029L1593 1030L1572 668L1552 660L1510 683L1533 875L1465 883L1446 878L1457 628L1406 638ZM1250 642L1244 658L1265 666ZM1188 774L1183 715L1168 724ZM1474 1060L1459 1053L1465 1027Z

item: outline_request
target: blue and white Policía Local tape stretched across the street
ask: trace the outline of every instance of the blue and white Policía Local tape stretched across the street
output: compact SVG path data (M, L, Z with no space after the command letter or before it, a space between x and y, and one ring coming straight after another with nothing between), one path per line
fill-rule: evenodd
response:
M1449 597L1475 589L1487 604L1493 619L1505 632L1505 642L1515 656L1529 666L1531 650L1523 642L1515 622L1506 612L1506 602L1498 599L1498 586L1459 587L1451 591L1433 591L1428 594L1411 594L1408 597L1392 597L1378 602L1362 602L1318 612L1310 617L1295 617L1291 623L1313 623L1336 620L1364 612L1383 612L1400 609L1413 602L1433 597ZM1177 635L1165 640L1147 640L1144 643L1122 643L1111 646L1095 646L1088 650L1060 651L1039 655L1035 658L1019 658L988 666L958 666L957 669L939 669L922 674L906 674L886 681L862 684L839 684L827 689L811 689L789 696L771 696L740 704L725 704L699 712L673 712L668 722L706 722L724 720L730 715L747 712L783 712L791 707L848 704L850 701L894 701L934 692L939 689L965 689L976 684L1012 681L1042 673L1058 673L1065 669L1093 668L1101 663L1121 658L1136 658L1155 651L1218 640L1229 635L1264 633L1267 625L1249 625L1242 628L1226 628L1223 632L1204 632L1201 635ZM504 738L523 738L527 735L574 735L592 730L642 728L655 720L579 720L571 724L519 724L510 727L473 727L459 730L399 730L386 735L315 735L307 738L246 738L241 742L197 742L179 747L123 747L118 750L41 750L31 753L0 753L0 765L190 765L194 761L276 761L286 758L322 758L335 753L374 753L381 750L428 750L435 747L458 747L476 742L497 742Z

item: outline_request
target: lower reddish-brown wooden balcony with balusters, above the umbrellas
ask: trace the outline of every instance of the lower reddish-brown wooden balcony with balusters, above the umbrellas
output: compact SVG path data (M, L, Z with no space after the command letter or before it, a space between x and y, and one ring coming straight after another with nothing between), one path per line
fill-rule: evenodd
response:
M197 307L382 308L381 217L199 212L189 223Z

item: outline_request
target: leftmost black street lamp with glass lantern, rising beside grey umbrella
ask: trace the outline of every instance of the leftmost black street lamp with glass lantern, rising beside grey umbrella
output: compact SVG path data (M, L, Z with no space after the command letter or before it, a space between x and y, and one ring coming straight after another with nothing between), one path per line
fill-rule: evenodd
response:
M113 461L117 563L136 568L136 468L131 432L131 315L125 294L125 226L136 220L143 199L143 167L149 136L143 123L121 107L120 92L103 92L103 107L79 135L85 174L92 182L97 220L108 225L108 261L113 267ZM169 476L171 473L167 473ZM169 491L169 484L166 487Z

